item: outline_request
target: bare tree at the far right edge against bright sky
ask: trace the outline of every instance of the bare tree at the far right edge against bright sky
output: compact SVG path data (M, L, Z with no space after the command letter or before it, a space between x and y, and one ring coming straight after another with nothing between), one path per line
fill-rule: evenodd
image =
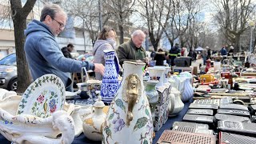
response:
M252 17L255 3L251 0L215 0L217 9L215 20L223 31L226 44L233 45L238 51L240 36L248 27L248 20Z

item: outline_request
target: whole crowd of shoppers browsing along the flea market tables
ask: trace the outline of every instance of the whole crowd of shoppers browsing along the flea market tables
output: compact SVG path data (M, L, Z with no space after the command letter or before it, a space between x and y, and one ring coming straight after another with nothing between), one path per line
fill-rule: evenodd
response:
M149 59L146 50L142 47L146 34L142 30L135 30L131 34L128 42L124 42L116 47L116 32L111 27L104 27L98 34L98 40L95 42L92 54L94 62L84 61L85 58L75 59L70 54L74 50L73 44L60 49L55 36L64 30L67 15L62 8L56 4L48 4L42 9L40 21L33 20L29 23L25 30L26 42L24 50L26 60L30 66L30 72L34 80L44 74L56 74L62 79L66 86L66 90L72 91L71 73L79 73L82 67L86 70L94 70L95 78L102 80L105 69L105 59L103 50L116 50L116 58L119 67L122 68L124 61L142 61L146 64ZM230 46L229 54L234 50ZM220 51L222 55L226 55L226 47L223 46ZM212 51L208 46L202 50L203 63L210 58ZM170 51L163 51L161 48L157 52L152 52L150 57L155 61L156 66L174 66L174 59L179 56L190 56L194 61L197 59L196 51L188 50L186 47L180 48L178 43L171 47Z

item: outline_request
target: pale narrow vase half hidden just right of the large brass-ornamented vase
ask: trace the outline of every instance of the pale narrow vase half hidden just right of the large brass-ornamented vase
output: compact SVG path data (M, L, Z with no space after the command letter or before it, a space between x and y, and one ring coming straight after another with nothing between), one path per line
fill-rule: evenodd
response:
M156 84L158 84L159 81L157 80L150 80L145 82L146 86L145 86L145 91L146 91L146 97L149 100L150 103L150 110L151 110L151 114L152 114L152 120L154 122L154 118L155 118L155 106L158 103L158 91L156 90L155 86Z

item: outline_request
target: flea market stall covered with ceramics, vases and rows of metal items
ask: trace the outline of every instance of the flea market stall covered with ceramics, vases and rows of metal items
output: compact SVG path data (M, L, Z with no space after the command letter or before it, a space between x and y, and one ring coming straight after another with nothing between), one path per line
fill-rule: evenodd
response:
M113 51L106 58L102 81L82 74L76 92L65 91L54 74L21 96L0 90L0 142L256 142L254 55L216 56L200 74L190 58L147 70L143 62L124 62L122 77Z

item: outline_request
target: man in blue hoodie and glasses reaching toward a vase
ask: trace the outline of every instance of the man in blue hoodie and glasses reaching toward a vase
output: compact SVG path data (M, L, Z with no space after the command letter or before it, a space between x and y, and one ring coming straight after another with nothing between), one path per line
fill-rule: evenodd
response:
M25 30L26 61L30 66L33 79L44 74L55 74L62 79L66 90L72 91L71 74L86 70L104 73L104 66L98 63L89 63L65 58L58 46L55 37L65 28L66 13L56 4L44 6L40 22L33 20Z

